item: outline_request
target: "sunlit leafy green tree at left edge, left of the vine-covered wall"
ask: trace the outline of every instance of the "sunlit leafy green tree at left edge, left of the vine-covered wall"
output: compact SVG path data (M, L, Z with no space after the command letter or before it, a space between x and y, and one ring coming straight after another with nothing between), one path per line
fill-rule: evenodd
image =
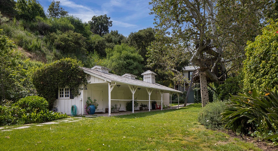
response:
M19 98L36 94L31 75L41 63L22 61L21 54L14 47L13 41L0 34L1 100L16 101Z

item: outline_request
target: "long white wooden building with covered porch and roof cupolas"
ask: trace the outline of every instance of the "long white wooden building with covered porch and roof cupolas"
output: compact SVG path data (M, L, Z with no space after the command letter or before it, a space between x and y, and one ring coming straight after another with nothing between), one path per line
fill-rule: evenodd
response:
M126 111L126 103L137 100L139 104L148 104L150 111L151 101L156 101L158 105L171 104L173 93L182 93L169 87L165 87L155 83L156 74L148 70L142 75L144 80L135 79L136 76L126 73L123 76L118 76L109 73L109 69L102 66L95 66L91 69L81 67L87 73L87 85L80 85L80 95L75 98L70 98L69 88L59 88L58 99L54 107L58 112L71 113L71 106L76 105L77 115L86 114L85 105L87 98L96 99L99 104L96 112L105 113L105 108L109 109L108 115L111 114L111 105L121 104L120 111ZM132 109L138 110L138 108Z

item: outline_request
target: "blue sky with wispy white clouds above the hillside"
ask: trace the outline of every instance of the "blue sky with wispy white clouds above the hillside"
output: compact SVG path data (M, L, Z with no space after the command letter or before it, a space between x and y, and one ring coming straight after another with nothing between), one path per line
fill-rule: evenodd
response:
M38 0L45 13L52 0ZM150 15L150 0L57 0L70 15L87 22L93 16L107 14L111 17L111 30L118 30L124 36L131 32L154 27L153 15Z

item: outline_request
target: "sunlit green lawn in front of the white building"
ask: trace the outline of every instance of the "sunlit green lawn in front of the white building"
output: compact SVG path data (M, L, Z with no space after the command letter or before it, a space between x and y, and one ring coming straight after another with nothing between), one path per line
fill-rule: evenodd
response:
M197 122L200 107L191 104L176 110L33 124L0 132L0 150L259 150L205 129Z

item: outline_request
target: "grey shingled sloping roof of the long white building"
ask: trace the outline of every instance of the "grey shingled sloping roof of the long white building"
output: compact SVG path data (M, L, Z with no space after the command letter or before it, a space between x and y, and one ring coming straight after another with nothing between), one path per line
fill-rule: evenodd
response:
M137 80L137 79L130 79L122 76L118 76L112 73L102 73L97 70L81 67L85 73L88 73L92 76L96 76L98 78L104 79L107 82L117 82L117 83L122 83L122 84L127 84L127 85L133 85L133 86L139 86L139 87L146 87L146 88L153 88L153 89L158 89L158 90L164 90L166 92L175 92L175 93L182 93L181 91L165 87L160 84L152 84L149 82L145 82L142 80Z

